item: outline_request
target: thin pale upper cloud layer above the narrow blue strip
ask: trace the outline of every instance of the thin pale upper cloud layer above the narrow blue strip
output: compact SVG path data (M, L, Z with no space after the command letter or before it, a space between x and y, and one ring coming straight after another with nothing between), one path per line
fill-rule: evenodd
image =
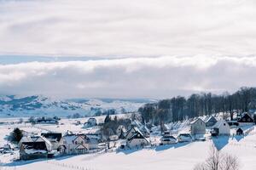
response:
M255 54L254 0L0 1L0 54Z

